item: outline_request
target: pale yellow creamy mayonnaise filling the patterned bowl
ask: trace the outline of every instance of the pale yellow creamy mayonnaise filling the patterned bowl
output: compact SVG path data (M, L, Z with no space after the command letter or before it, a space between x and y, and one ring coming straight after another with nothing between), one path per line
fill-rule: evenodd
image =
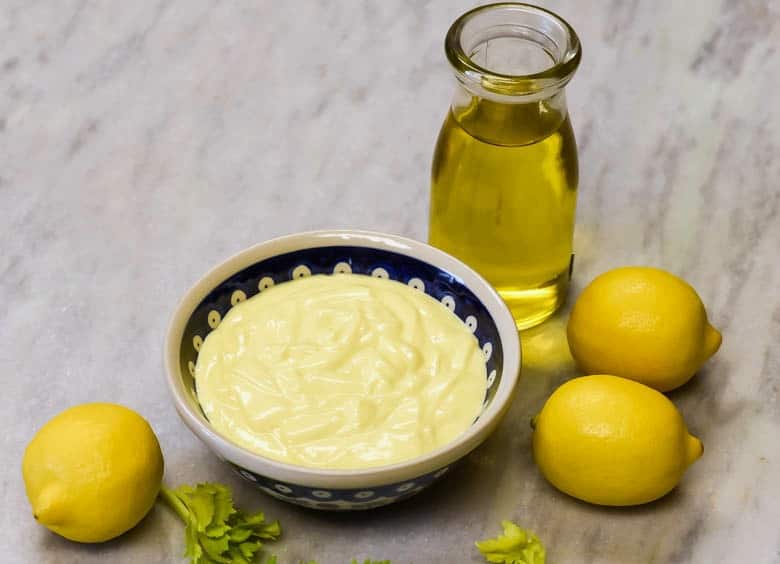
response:
M238 303L203 342L204 413L223 435L317 468L392 464L476 419L485 357L434 298L354 274L279 284Z

